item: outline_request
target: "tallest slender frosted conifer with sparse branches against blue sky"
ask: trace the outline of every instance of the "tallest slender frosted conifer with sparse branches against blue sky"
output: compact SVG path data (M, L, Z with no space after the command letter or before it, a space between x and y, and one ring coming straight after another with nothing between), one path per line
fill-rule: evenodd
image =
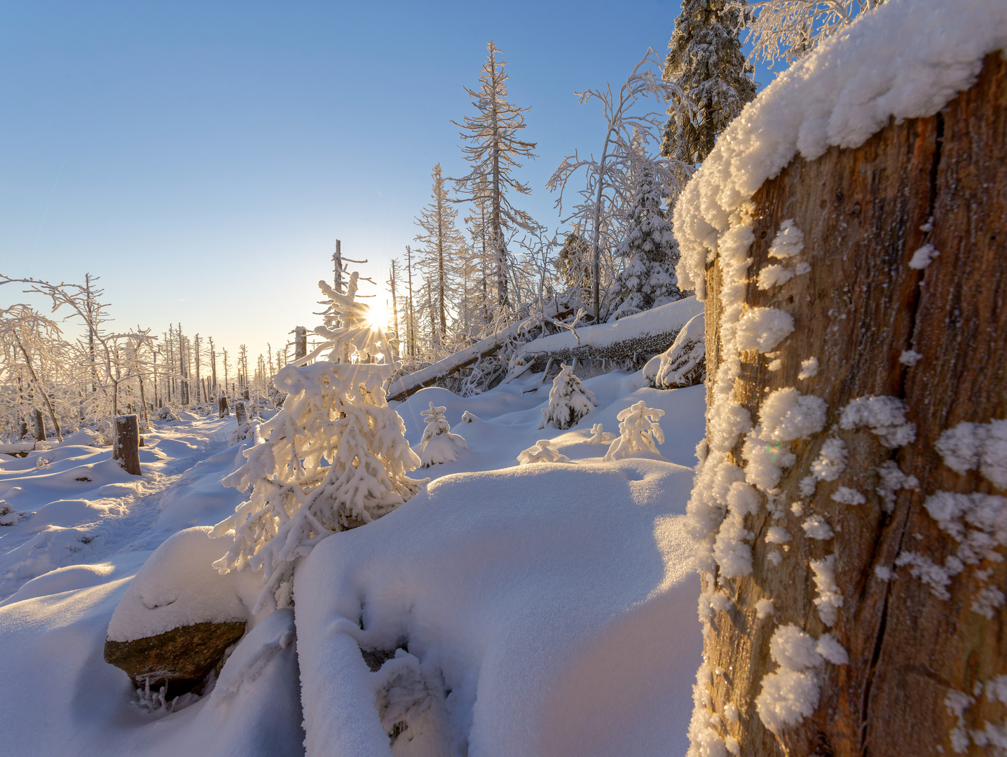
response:
M455 179L462 198L483 205L489 214L488 232L496 275L497 304L510 307L508 295L508 251L505 231L532 231L535 221L525 210L514 206L510 192L530 194L531 188L514 177L521 168L519 158L535 158L535 143L518 138L525 128L522 114L528 108L518 108L508 100L506 62L497 58L499 50L490 40L486 45L486 62L479 73L479 89L465 92L472 99L477 115L466 116L459 124L461 138L467 142L461 151L471 169Z

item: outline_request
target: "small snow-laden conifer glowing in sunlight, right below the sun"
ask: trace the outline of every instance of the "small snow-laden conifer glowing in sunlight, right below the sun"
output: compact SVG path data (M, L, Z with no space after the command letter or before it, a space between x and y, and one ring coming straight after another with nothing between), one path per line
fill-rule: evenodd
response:
M356 302L357 279L349 277L344 294L318 282L329 301L315 328L322 343L277 373L289 396L224 480L251 492L213 529L232 539L214 567L262 572L257 613L292 604L294 563L321 540L391 512L425 483L406 475L420 458L384 389L398 364L370 308Z

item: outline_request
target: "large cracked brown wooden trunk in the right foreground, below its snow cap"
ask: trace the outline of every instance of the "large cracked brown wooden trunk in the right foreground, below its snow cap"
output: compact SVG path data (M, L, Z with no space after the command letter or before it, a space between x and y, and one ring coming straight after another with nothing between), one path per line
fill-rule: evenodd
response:
M756 423L776 390L828 409L821 432L788 443L795 460L765 505L743 515L751 573L727 578L718 558L704 580L730 603L710 603L704 651L717 674L701 687L742 755L980 754L999 744L988 727L1003 733L1007 703L991 684L1007 672L1007 534L990 518L1007 518L1007 476L967 462L955 470L938 448L960 423L994 435L988 424L1007 418L1005 186L1007 65L994 54L937 115L891 124L856 149L796 158L754 195L746 307L786 311L795 330L778 352L741 353L735 398ZM759 290L786 219L804 232L797 260L810 273ZM940 257L910 267L926 245ZM718 259L707 271L710 376L730 357L718 338L722 274ZM896 398L913 438L895 439L899 420L884 403L844 415L869 397ZM970 437L976 455L982 433ZM821 454L829 439L847 453L831 473L821 461L842 455ZM758 453L739 443L730 458L750 469ZM818 639L831 632L849 661L808 667L820 696L774 735L757 699L783 669L770 639L788 624Z

